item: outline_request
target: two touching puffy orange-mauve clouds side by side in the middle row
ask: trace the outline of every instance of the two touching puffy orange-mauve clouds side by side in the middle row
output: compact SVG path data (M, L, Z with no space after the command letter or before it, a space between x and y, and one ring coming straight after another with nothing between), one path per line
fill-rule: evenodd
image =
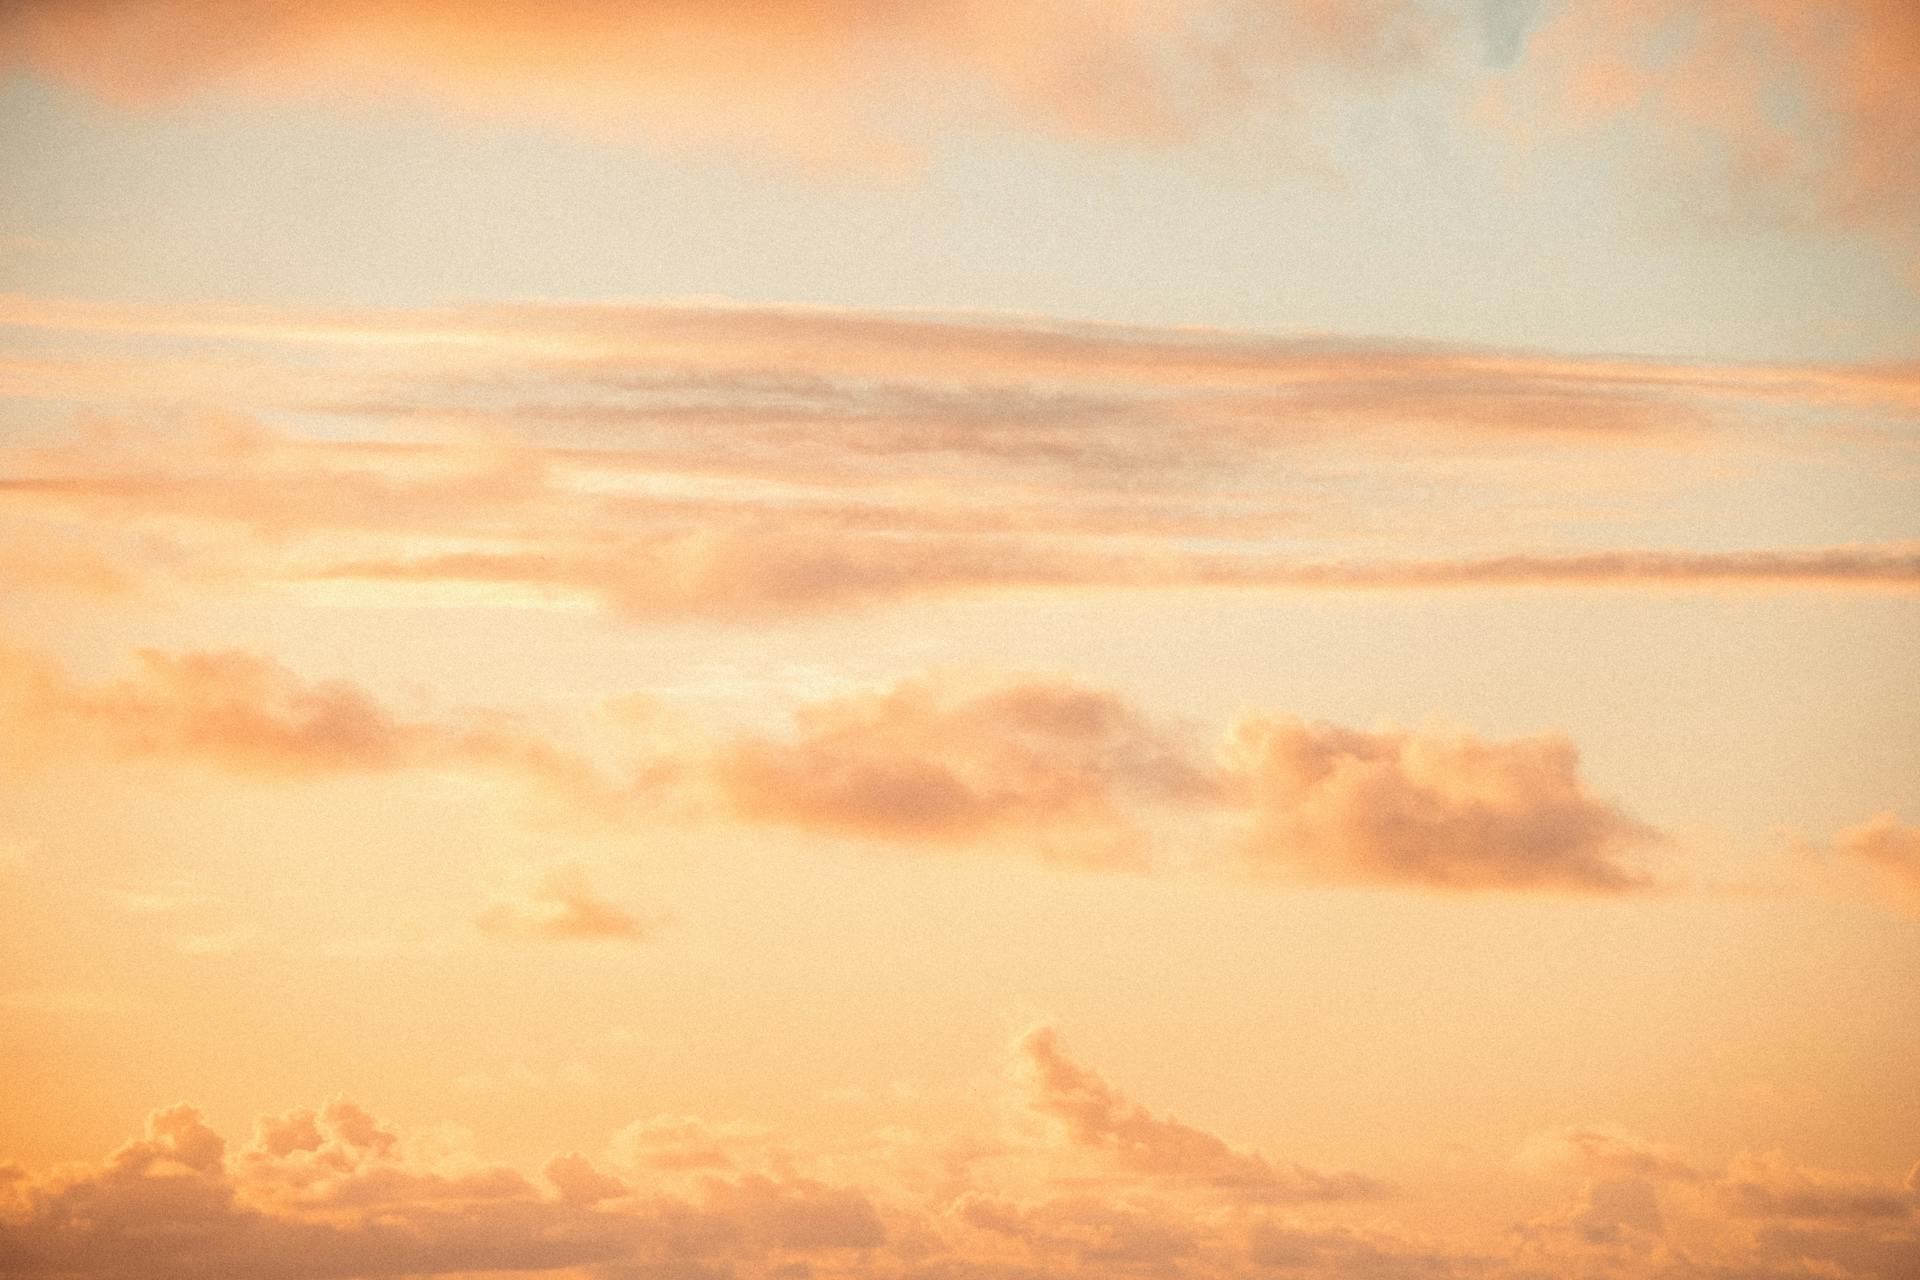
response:
M829 699L716 775L745 818L906 846L1152 865L1154 812L1246 823L1244 860L1304 881L1626 892L1657 833L1594 796L1561 737L1363 731L1246 716L1208 756L1112 693L908 681Z

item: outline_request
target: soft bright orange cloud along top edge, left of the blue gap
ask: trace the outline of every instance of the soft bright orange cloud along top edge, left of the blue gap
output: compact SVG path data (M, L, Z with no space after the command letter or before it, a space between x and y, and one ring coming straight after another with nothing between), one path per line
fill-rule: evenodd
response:
M1434 33L1380 0L52 0L0 12L0 54L127 106L209 86L355 100L399 92L486 115L664 142L751 140L803 159L889 159L885 106L1062 134L1167 140L1300 69L1404 67Z

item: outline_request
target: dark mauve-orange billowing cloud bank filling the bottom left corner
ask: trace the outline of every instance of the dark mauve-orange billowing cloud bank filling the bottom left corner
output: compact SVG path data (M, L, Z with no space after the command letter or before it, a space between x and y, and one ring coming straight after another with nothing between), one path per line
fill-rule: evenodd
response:
M547 1161L543 1176L553 1194L503 1165L422 1157L344 1100L267 1117L234 1153L200 1111L167 1107L104 1163L15 1188L0 1270L365 1280L626 1265L772 1276L883 1240L860 1192L808 1178L712 1178L676 1196L630 1188L580 1155Z

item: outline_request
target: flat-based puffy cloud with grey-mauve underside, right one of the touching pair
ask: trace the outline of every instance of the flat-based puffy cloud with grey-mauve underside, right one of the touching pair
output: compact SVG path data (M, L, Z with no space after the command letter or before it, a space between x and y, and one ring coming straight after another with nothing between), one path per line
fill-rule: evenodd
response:
M1254 814L1246 858L1277 875L1427 889L1624 892L1620 854L1655 833L1596 798L1555 735L1348 729L1242 720L1229 775Z

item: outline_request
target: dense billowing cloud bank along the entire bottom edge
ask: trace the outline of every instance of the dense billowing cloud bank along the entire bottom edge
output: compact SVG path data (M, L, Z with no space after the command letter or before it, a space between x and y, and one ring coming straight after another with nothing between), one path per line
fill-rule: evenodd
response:
M1073 1061L1056 1031L1014 1048L1014 1125L958 1180L906 1176L900 1136L856 1173L691 1117L555 1155L538 1178L415 1144L365 1109L263 1117L228 1150L167 1107L96 1165L0 1180L0 1274L60 1280L382 1280L555 1274L776 1280L1526 1280L1705 1274L1897 1280L1920 1197L1889 1180L1741 1155L1720 1171L1607 1128L1523 1153L1580 1180L1500 1242L1386 1224L1392 1188L1240 1151ZM1087 1161L1092 1161L1092 1167ZM841 1157L845 1169L845 1157ZM1329 1217L1375 1205L1369 1224ZM1682 1244L1684 1242L1684 1244Z

